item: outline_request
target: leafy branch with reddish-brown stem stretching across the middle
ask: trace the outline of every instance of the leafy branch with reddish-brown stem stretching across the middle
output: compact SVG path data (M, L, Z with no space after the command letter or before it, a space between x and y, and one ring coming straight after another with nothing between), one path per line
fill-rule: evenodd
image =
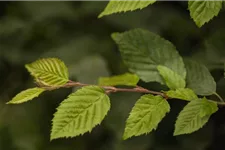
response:
M26 102L44 91L82 86L57 108L52 119L51 139L75 137L91 132L110 111L108 95L113 92L144 94L130 112L123 139L156 130L158 124L170 112L167 101L169 99L188 102L177 117L175 136L199 130L218 110L218 105L224 104L204 97L216 94L216 83L209 70L196 61L183 60L169 41L144 29L113 33L112 38L131 73L101 77L99 85L88 85L69 80L68 69L61 60L39 59L26 65L38 87L19 93L8 104ZM162 94L149 92L138 86L139 80L159 82L169 90L162 91ZM128 86L128 89L115 87L120 85Z

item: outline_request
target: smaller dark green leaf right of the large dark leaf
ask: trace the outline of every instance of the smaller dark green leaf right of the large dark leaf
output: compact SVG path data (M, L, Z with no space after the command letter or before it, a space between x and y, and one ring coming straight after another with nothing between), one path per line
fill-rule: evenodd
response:
M209 70L196 61L185 60L187 69L187 88L198 95L212 95L216 92L216 82Z

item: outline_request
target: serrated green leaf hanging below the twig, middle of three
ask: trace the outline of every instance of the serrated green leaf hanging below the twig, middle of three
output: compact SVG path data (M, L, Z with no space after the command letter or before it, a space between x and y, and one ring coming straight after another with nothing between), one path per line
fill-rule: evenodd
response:
M170 106L163 97L151 94L142 96L126 121L123 138L128 139L151 132L169 111Z

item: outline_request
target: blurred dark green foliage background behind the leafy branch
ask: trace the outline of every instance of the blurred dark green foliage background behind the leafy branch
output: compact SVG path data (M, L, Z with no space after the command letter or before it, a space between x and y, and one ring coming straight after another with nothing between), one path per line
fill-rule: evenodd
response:
M225 12L198 28L190 18L187 0L158 0L141 11L97 19L106 0L0 1L0 150L219 150L225 144L225 109L203 129L173 137L177 114L186 104L171 100L171 112L158 131L122 141L125 120L139 94L112 94L112 109L91 134L50 142L55 108L74 89L45 93L34 101L11 106L16 93L34 86L24 68L41 57L58 57L69 66L71 78L97 83L100 76L127 71L110 34L145 28L171 41L184 57L204 63L225 98ZM161 90L156 83L140 85ZM215 97L211 97L215 98Z

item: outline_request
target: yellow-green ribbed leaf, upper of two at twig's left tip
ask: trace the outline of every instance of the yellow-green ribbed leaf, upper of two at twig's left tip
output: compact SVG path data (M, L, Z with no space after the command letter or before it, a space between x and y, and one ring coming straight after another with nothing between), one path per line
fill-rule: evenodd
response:
M69 81L66 65L57 58L39 59L27 64L26 68L38 83L47 86L64 85Z

